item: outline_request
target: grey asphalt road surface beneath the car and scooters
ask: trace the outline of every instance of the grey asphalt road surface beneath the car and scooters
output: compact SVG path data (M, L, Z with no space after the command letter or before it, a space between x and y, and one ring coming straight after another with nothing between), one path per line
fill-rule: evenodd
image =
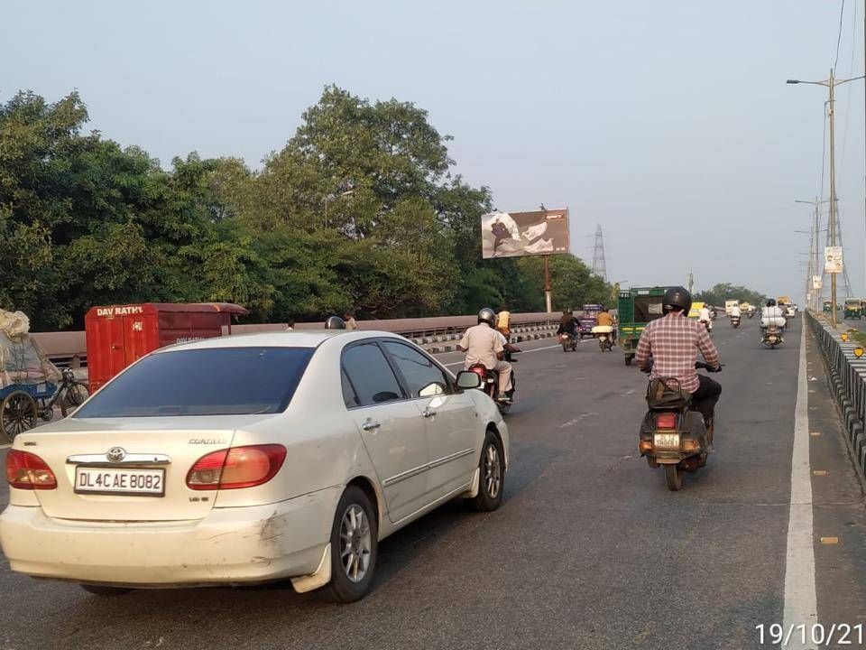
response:
M765 647L756 626L781 623L786 605L802 324L769 350L757 320L718 323L717 451L680 492L637 455L646 381L619 348L536 341L517 366L502 508L453 502L384 541L363 601L288 584L100 599L0 569L0 647ZM866 625L861 483L807 348L810 469L826 472L811 479L818 620Z

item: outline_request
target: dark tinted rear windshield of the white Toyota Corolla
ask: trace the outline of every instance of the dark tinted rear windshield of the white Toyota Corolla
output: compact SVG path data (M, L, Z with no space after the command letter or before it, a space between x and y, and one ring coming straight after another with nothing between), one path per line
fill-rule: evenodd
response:
M76 418L279 413L313 348L207 348L144 357L104 386Z

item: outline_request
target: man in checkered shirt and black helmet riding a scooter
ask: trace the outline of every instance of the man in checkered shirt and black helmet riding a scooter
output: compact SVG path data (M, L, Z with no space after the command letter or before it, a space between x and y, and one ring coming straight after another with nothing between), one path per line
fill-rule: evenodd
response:
M718 372L722 366L719 352L704 325L686 318L691 308L692 296L686 289L669 288L662 299L665 316L647 324L638 341L636 358L641 370L650 371L650 379L676 379L680 387L691 394L692 410L701 413L710 428L722 386L695 372L697 352L704 355L710 372Z

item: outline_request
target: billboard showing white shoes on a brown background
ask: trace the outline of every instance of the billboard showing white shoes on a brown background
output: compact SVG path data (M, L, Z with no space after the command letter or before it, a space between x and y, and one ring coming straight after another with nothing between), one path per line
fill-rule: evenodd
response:
M568 252L568 210L491 212L481 218L484 259Z

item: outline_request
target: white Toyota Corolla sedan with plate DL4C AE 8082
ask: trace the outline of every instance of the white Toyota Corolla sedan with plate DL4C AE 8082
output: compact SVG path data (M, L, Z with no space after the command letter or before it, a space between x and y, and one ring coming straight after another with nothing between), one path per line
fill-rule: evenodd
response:
M477 385L387 332L162 348L15 438L3 552L102 595L290 578L359 599L383 537L453 497L500 505L508 431Z

